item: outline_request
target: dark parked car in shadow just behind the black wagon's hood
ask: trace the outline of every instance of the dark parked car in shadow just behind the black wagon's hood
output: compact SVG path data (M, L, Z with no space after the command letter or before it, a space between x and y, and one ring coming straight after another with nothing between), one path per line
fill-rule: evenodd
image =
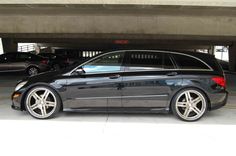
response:
M69 59L65 56L60 56L53 53L39 53L39 56L49 59L49 65L53 70L60 70L69 65Z

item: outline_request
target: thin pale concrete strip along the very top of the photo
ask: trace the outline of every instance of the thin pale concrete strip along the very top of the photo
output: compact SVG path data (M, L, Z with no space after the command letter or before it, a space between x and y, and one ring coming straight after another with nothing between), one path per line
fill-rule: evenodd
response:
M235 0L1 0L0 4L124 4L235 7Z

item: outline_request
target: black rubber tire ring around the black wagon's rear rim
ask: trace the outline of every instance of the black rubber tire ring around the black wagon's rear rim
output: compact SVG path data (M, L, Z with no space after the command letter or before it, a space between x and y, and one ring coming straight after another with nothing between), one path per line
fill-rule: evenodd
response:
M186 119L183 119L181 116L179 116L179 114L177 113L177 110L176 110L176 100L177 98L179 97L180 94L182 94L183 92L187 91L187 90L195 90L197 92L199 92L205 99L206 101L206 109L204 111L204 113L202 114L202 116L200 116L199 118L195 119L195 120L186 120ZM182 89L180 90L179 92L177 92L175 94L175 96L173 97L172 101L171 101L171 112L176 116L178 117L180 120L183 120L183 121L187 121L187 122L194 122L194 121L197 121L199 119L201 119L207 112L208 110L208 100L207 100L207 97L206 95L200 90L200 89L197 89L197 88L185 88L185 89Z

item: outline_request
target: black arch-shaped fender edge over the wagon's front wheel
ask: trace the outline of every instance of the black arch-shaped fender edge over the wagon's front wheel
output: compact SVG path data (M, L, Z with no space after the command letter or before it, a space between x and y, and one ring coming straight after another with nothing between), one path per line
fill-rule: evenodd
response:
M28 94L28 92L32 88L38 87L38 86L48 87L48 88L52 89L53 91L55 91L55 93L58 95L59 100L61 102L61 110L63 110L63 102L62 102L62 99L61 99L61 96L60 96L59 92L53 86L51 86L51 85L49 85L47 83L35 83L35 84L30 85L29 87L27 87L26 91L23 93L22 98L21 98L21 110L26 110L24 102L25 102L26 95Z

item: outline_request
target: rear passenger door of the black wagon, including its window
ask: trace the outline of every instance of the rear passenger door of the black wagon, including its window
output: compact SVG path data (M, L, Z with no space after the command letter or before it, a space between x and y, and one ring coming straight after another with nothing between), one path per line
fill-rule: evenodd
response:
M166 107L173 87L180 84L168 54L129 51L124 60L123 107Z

